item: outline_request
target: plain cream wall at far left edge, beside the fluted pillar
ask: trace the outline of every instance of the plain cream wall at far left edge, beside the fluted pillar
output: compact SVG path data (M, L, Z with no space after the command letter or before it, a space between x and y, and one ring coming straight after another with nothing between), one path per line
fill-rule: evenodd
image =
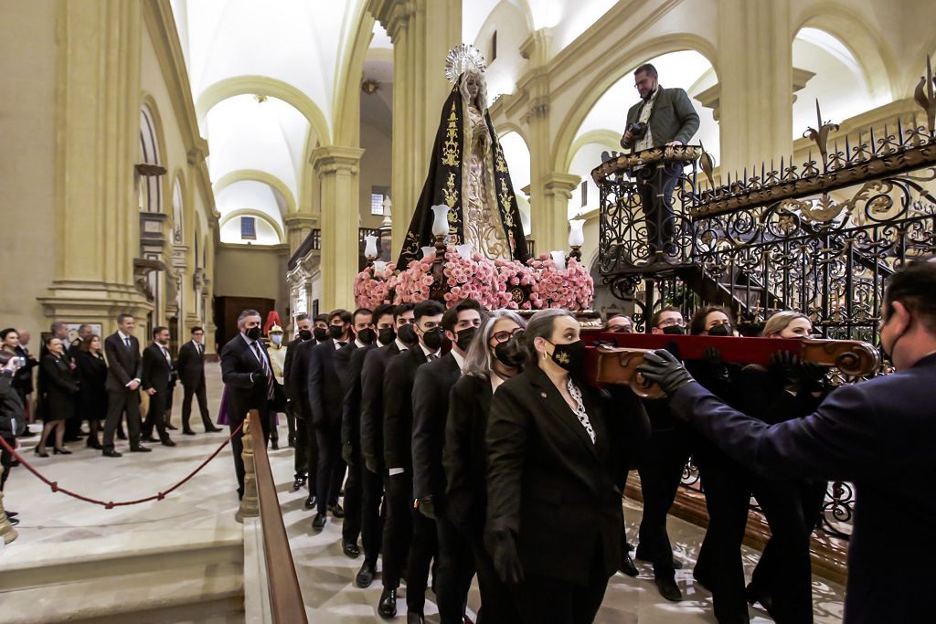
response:
M55 261L55 4L5 3L0 20L0 325L30 330L35 352Z

